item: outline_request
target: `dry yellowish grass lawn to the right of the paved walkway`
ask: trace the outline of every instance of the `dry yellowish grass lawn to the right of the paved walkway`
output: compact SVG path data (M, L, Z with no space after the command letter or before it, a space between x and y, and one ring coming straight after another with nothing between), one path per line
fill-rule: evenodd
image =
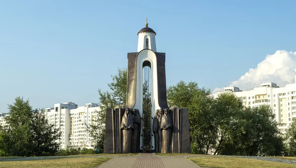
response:
M200 167L210 168L295 168L296 165L262 161L256 159L230 157L196 157L188 158Z

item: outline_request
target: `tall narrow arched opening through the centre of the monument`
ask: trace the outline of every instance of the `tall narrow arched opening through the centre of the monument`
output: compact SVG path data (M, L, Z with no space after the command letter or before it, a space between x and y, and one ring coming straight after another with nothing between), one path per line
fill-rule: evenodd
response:
M151 63L143 62L143 152L151 152Z

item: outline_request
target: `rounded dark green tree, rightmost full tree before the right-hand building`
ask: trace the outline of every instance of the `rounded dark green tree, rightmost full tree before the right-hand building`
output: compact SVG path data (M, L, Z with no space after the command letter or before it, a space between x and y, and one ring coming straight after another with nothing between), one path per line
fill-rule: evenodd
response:
M277 129L275 114L268 105L245 108L240 114L242 129L233 144L225 144L222 154L270 156L281 155L283 141ZM235 140L234 140L235 138Z

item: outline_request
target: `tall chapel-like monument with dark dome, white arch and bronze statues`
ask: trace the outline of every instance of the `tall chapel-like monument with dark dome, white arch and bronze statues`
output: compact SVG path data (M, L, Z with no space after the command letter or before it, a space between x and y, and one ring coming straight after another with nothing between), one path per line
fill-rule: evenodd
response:
M128 53L125 109L107 109L104 153L190 153L188 110L169 109L165 53L156 52L156 32L138 32L138 51ZM150 68L150 98L143 97L143 68ZM176 66L176 65L172 65Z

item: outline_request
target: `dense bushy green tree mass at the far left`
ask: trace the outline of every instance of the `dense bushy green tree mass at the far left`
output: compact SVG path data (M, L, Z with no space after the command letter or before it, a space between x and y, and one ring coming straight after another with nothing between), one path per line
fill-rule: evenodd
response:
M43 112L34 112L29 100L17 97L8 105L6 125L0 128L0 149L8 156L53 155L58 150L58 130Z

